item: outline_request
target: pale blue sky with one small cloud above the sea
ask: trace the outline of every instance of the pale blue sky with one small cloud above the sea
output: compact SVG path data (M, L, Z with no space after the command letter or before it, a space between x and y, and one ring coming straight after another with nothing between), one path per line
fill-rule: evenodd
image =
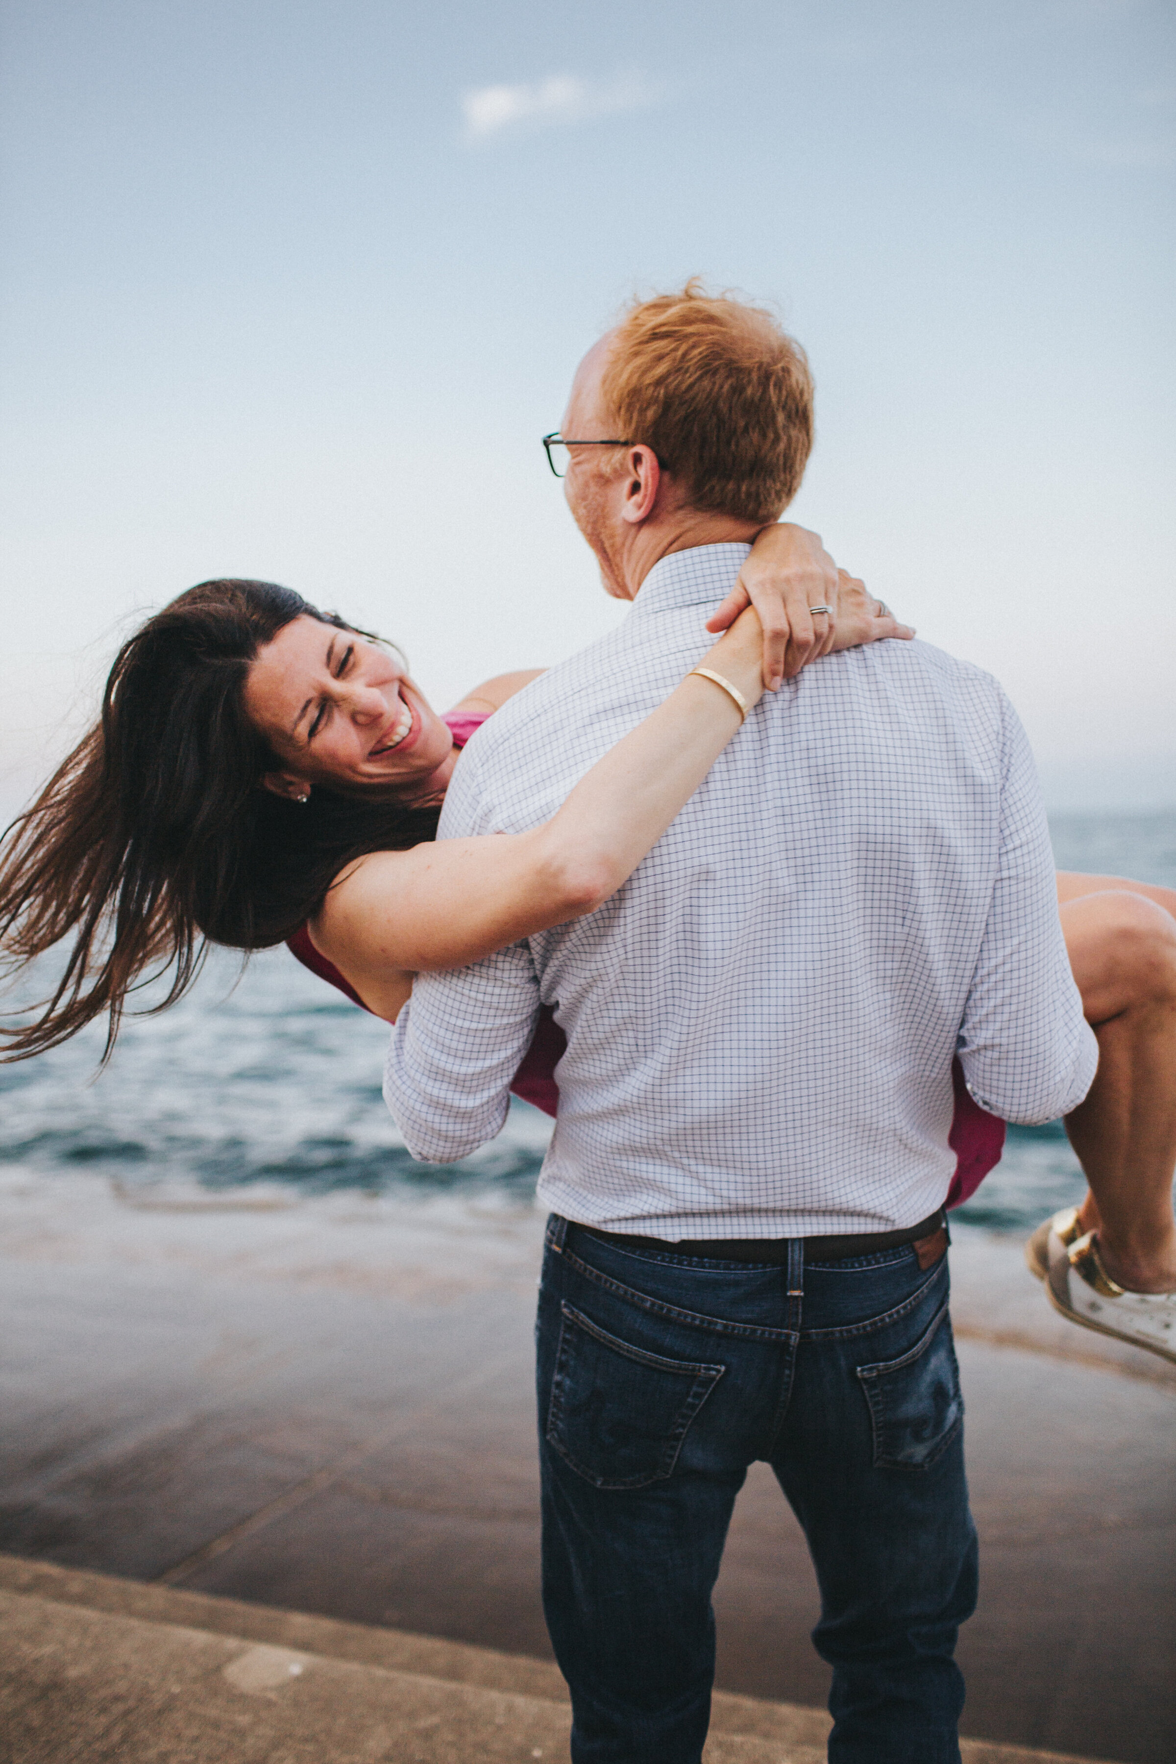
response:
M1049 804L1176 806L1174 171L1171 0L0 0L0 803L208 577L439 707L610 630L540 436L698 273L809 353L790 515Z

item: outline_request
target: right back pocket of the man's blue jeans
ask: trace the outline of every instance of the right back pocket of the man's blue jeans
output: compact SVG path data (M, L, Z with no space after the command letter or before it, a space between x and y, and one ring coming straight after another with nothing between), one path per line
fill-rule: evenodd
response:
M910 1353L859 1365L880 1469L927 1469L959 1432L964 1399L947 1305Z

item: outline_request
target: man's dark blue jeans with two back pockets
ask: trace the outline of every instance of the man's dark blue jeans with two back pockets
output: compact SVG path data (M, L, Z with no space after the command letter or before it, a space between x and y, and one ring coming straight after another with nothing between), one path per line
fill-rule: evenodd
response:
M977 1596L947 1256L786 1267L619 1249L552 1215L538 1316L543 1607L575 1764L698 1764L735 1496L804 1526L836 1764L957 1764Z

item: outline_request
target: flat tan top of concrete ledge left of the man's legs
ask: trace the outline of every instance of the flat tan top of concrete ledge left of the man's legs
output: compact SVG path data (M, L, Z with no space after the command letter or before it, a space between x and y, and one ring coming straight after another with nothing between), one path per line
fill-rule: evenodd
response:
M566 1709L538 1697L30 1595L0 1593L0 1723L21 1764L515 1764L566 1752Z

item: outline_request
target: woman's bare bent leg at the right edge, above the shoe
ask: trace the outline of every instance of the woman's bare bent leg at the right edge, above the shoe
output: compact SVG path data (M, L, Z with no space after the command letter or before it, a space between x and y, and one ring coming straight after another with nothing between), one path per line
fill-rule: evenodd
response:
M1098 1074L1067 1117L1107 1274L1135 1293L1176 1289L1176 891L1058 875L1061 928Z

